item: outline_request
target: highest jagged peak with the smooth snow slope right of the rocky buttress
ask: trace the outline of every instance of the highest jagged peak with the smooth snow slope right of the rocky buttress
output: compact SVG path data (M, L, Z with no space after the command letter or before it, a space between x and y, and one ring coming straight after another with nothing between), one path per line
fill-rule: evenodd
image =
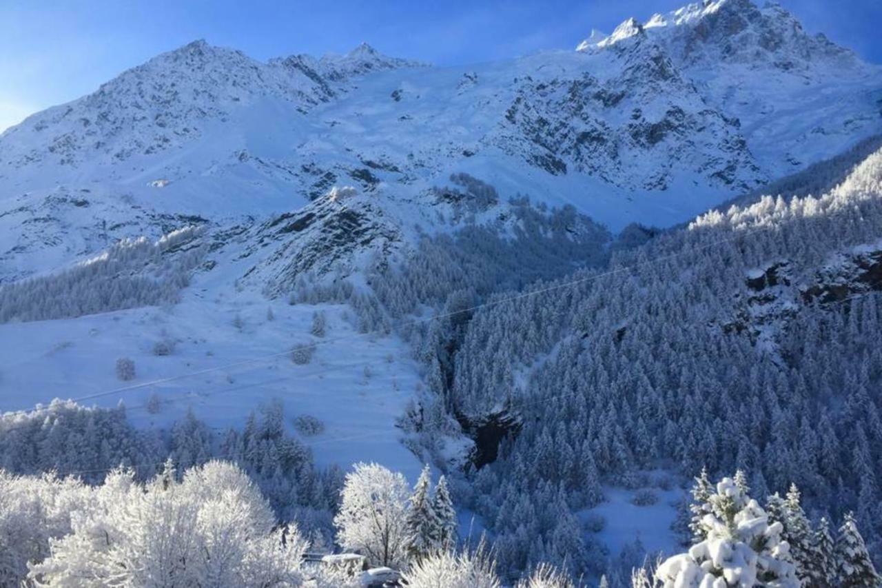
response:
M736 118L772 177L802 169L878 130L880 72L824 34L806 33L777 4L689 4L645 23L624 21L579 51L659 50L708 106Z

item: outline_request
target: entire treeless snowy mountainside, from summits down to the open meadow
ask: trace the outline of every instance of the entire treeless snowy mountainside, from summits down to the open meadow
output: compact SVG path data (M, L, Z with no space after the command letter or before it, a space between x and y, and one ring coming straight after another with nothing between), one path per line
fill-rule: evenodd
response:
M407 255L422 234L511 230L519 194L611 230L684 222L882 131L880 100L878 66L746 0L469 67L364 45L262 63L196 41L0 135L0 284L190 225L205 227L209 252L170 308L0 325L0 409L118 388L118 357L135 360L136 385L213 369L94 402L141 406L155 391L167 404L159 416L132 411L139 423L193 406L221 426L280 397L289 417L325 421L319 461L415 471L396 427L421 377L405 345L359 334L342 306L325 305L329 339L345 341L293 365L284 353L310 340L317 310L287 304L298 279L358 283L368 263ZM434 190L460 173L498 198ZM354 190L333 191L342 186ZM165 338L176 353L154 356Z

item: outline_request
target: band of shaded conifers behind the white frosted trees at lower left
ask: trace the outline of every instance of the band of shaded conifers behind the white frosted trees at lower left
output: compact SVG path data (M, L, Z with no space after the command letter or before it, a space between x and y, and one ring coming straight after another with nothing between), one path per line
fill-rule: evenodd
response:
M310 449L285 431L281 403L262 406L241 430L225 432L191 412L168 429L138 429L123 405L104 410L59 400L0 416L0 469L11 474L53 471L93 485L123 467L145 481L160 473L168 459L177 471L212 459L232 462L262 491L278 520L296 518L318 543L328 544L333 537L343 473L315 466Z

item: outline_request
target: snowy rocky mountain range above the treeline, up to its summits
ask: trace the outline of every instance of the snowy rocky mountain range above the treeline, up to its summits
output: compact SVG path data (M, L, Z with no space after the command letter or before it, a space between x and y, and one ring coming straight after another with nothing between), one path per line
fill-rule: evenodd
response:
M428 227L426 194L459 172L502 207L683 222L878 132L880 72L748 0L472 67L367 45L261 63L196 41L0 136L0 280L156 236L157 217L265 218L334 185Z

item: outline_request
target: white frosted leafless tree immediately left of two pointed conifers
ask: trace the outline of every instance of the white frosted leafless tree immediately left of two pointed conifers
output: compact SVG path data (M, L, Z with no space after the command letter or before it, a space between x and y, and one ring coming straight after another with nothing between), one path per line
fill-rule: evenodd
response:
M407 481L378 464L356 464L340 493L334 517L337 542L375 565L407 562Z

